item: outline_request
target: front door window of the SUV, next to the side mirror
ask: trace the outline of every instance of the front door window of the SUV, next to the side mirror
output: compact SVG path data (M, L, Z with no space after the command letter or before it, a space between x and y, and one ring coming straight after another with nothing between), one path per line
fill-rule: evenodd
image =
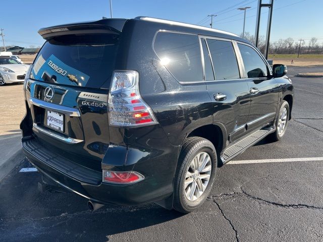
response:
M260 55L245 44L238 44L248 78L266 77L267 66Z

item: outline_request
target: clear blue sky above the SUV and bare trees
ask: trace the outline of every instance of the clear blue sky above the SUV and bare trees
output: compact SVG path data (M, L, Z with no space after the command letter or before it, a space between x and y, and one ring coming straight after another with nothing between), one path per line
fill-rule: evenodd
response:
M252 7L247 11L245 31L254 34L257 2L257 0L112 0L112 5L115 18L149 16L191 24L200 23L207 27L210 19L205 17L208 14L218 14L214 18L213 28L236 34L242 33L243 27L243 11L237 8ZM236 6L232 7L234 5ZM42 45L43 40L37 33L41 27L97 20L102 16L110 17L109 0L2 0L2 6L6 8L1 11L0 28L5 29L6 45L24 47ZM265 23L267 14L262 14L261 20ZM263 25L260 32L264 35L266 27ZM319 43L323 42L323 0L274 0L271 41L288 37L295 40L316 37Z

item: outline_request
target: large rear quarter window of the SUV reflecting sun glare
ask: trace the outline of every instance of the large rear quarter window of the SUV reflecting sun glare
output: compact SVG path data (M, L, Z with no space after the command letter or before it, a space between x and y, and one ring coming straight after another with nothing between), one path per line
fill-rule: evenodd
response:
M161 64L165 65L178 81L203 81L201 50L197 35L159 32L153 47Z

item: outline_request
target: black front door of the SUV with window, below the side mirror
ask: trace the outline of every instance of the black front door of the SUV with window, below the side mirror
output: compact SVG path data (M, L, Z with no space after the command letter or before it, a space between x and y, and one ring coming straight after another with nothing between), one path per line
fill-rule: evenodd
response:
M252 131L274 120L279 100L278 84L270 75L267 63L254 47L245 43L237 45L251 95L247 130Z

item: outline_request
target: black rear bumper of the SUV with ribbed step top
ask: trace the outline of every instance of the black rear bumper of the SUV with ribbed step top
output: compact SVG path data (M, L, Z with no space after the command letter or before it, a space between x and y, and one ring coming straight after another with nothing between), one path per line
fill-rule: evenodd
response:
M47 178L91 201L102 204L141 205L164 200L172 195L172 180L160 186L153 176L130 185L102 183L102 174L54 154L35 138L23 138L28 160Z

